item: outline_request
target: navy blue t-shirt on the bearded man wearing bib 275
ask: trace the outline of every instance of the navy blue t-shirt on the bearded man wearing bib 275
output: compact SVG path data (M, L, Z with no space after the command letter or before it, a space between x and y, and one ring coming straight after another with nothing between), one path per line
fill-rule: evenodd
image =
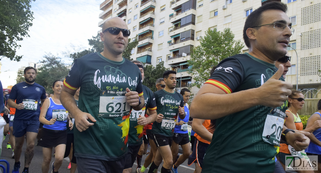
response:
M16 109L15 120L39 120L40 99L45 99L46 90L38 83L32 85L21 82L15 84L9 96L9 99L16 100L17 104L24 103L25 108Z

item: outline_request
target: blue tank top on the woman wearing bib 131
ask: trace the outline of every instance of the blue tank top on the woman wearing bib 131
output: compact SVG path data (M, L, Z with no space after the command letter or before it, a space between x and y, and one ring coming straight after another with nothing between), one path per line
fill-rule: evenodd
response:
M51 97L48 98L50 101L46 119L50 121L52 118L57 118L56 122L52 125L44 124L43 127L51 130L66 130L68 111L62 105L56 104Z

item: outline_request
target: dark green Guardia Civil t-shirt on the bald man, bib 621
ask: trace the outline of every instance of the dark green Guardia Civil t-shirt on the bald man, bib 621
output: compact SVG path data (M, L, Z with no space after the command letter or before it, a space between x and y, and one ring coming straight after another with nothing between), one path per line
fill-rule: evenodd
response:
M137 65L91 53L75 60L64 85L71 90L81 87L78 107L97 121L83 132L74 130L75 156L106 161L124 156L132 109L126 102L126 88L143 95Z

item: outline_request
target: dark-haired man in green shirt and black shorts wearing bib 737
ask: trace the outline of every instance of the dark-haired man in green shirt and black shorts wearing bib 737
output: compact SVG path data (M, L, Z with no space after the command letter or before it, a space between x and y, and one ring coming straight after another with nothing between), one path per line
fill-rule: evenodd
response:
M157 113L164 115L161 123L154 122L152 127L153 140L157 146L155 160L149 168L148 173L157 171L160 163L164 160L161 173L171 171L173 164L170 146L173 140L174 127L177 116L185 118L183 96L175 92L176 72L165 71L163 74L165 88L154 93L156 99Z

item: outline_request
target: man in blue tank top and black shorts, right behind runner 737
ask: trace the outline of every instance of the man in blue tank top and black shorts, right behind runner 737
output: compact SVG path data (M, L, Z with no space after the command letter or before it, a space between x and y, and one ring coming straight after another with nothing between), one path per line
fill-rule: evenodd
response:
M177 167L184 163L186 159L191 155L191 145L188 137L188 131L187 131L187 125L188 125L188 119L189 119L189 110L188 110L188 100L189 97L191 96L191 91L188 90L187 88L183 88L180 91L180 94L183 96L184 99L184 110L185 110L185 118L180 119L179 116L177 117L175 129L174 129L174 136L173 136L173 141L172 141L172 146L170 147L172 151L172 156L173 156L173 167L172 167L172 172L173 173L178 173L177 172ZM183 154L180 155L177 158L178 154L178 145L182 147Z

